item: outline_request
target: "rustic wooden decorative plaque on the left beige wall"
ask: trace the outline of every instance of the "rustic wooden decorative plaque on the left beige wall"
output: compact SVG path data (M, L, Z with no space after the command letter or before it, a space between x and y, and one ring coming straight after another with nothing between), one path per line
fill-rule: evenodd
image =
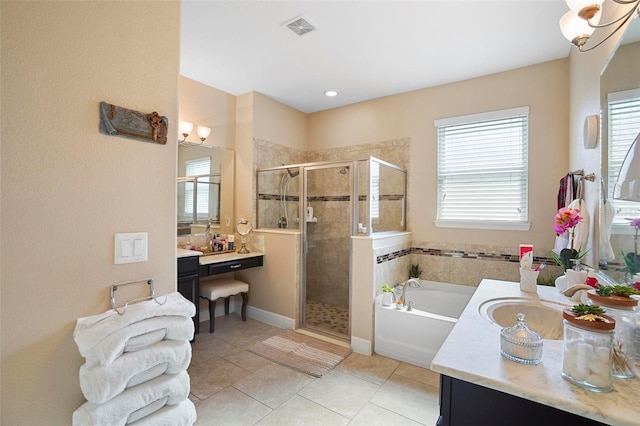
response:
M167 117L100 102L100 133L143 142L167 143Z

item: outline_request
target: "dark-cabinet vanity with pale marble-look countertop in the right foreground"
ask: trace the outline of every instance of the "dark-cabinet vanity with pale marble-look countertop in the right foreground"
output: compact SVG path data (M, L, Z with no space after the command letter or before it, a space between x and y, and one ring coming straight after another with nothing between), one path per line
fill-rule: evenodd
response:
M509 303L540 305L551 316L555 310L559 321L562 308L574 305L555 287L525 293L519 283L483 280L431 363L441 375L439 426L640 425L640 378L614 378L609 393L568 382L560 375L562 340L557 336L544 340L540 364L519 364L500 355L502 326L487 313L492 304ZM533 323L529 326L537 331Z

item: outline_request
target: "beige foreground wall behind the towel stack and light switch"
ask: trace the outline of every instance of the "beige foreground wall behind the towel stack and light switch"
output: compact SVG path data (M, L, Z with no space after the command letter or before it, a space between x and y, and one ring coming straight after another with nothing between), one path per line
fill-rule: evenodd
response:
M76 319L111 284L175 289L180 3L2 1L1 19L0 423L70 424ZM100 134L100 101L167 116L169 142ZM149 261L114 265L117 232L148 232Z

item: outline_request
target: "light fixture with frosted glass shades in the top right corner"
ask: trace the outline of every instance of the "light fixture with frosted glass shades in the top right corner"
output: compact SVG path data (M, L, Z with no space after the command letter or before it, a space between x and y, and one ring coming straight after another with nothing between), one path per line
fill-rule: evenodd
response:
M588 52L600 46L612 35L614 35L620 28L626 24L635 14L640 14L640 0L611 0L613 3L621 5L630 5L628 11L624 12L622 16L614 19L606 24L600 24L600 17L602 15L602 3L604 0L565 0L569 10L560 18L560 31L567 40L576 45L581 52ZM602 39L595 46L585 48L585 44L589 41L589 37L595 31L596 28L610 27L614 24L618 24L613 28L611 33Z

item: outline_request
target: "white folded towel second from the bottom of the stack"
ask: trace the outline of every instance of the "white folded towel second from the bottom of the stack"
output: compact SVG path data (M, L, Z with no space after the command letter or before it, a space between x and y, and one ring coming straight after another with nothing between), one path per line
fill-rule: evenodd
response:
M73 412L73 425L126 425L189 396L189 374L163 374L129 388L104 404L85 402Z

